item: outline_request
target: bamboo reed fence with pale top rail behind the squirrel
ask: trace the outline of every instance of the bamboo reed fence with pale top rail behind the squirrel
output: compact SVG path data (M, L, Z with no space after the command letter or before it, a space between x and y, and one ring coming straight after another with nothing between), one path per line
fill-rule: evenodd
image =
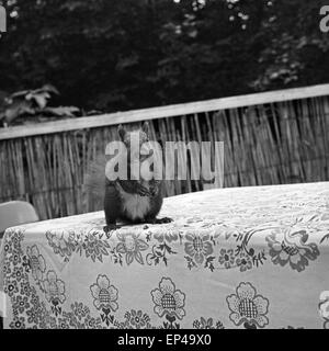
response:
M224 141L224 186L329 180L325 84L2 128L0 202L29 201L42 219L101 210L83 189L89 165L117 139L118 123L146 120L161 141ZM191 158L188 170L194 166ZM166 195L220 185L166 182Z

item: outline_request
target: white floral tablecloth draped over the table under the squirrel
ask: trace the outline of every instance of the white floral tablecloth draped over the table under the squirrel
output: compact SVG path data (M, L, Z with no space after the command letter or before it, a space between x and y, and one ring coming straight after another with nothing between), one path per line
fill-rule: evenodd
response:
M8 229L4 328L329 328L329 183L185 194L161 216Z

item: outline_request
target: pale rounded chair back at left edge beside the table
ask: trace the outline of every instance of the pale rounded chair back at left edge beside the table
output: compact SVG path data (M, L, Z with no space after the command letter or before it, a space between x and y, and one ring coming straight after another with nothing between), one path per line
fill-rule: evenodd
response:
M29 202L10 201L0 204L0 238L7 228L38 220L35 208Z

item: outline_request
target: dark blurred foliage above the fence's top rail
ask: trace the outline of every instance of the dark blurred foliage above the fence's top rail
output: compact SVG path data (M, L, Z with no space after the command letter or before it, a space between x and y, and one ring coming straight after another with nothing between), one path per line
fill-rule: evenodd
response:
M0 99L123 111L329 81L320 0L8 0Z

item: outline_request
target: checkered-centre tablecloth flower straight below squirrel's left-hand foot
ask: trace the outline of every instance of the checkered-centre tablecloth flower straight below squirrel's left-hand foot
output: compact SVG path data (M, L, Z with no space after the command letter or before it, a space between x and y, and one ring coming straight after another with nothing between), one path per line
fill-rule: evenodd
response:
M118 291L110 284L106 275L99 275L97 283L90 286L91 294L94 298L93 305L97 309L109 309L115 312L118 308L116 303Z

